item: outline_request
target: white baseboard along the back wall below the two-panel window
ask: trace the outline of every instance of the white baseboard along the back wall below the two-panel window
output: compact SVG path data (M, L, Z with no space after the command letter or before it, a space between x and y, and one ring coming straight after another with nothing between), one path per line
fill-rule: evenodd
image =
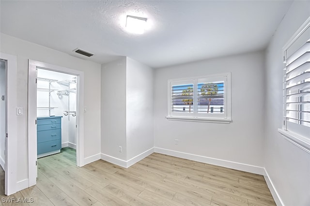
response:
M203 162L203 163L208 163L208 164L214 164L217 166L222 166L222 167L227 167L235 170L241 170L245 172L250 172L258 175L264 175L264 168L263 167L258 167L250 164L244 164L244 163L239 163L239 162L231 162L227 160L220 160L220 159L215 159L215 158L210 158L210 157L204 157L200 155L194 155L194 154L189 154L185 152L179 152L179 151L174 151L174 150L169 150L169 149L164 149L164 148L159 148L159 147L154 147L154 152L161 153L161 154L166 154L170 155L173 157L179 157L179 158L184 158L187 160L193 160L197 162Z

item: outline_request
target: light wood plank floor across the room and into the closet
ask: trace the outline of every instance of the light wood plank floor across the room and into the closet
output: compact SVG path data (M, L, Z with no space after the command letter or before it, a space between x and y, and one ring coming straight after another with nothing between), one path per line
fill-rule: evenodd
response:
M276 205L260 175L158 153L128 169L102 160L77 167L75 155L67 147L40 158L37 185L10 197L33 198L31 206Z

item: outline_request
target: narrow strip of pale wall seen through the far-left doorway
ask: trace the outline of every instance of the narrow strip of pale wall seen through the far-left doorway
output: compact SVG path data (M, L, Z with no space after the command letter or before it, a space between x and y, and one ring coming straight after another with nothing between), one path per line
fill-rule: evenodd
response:
M5 95L5 61L0 61L0 97ZM6 98L6 97L5 97ZM0 99L0 165L5 163L5 101Z

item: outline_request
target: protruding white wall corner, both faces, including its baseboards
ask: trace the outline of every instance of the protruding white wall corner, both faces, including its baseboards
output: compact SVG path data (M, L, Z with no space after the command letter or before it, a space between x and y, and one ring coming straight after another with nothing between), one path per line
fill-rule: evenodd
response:
M153 70L127 57L103 64L102 159L128 167L152 153L153 146Z

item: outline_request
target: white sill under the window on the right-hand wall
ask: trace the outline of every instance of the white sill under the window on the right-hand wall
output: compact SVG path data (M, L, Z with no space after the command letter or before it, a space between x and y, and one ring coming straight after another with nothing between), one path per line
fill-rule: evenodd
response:
M303 149L304 151L310 153L310 139L298 135L293 132L289 132L287 130L278 129L278 132L289 142L294 144L295 146Z

